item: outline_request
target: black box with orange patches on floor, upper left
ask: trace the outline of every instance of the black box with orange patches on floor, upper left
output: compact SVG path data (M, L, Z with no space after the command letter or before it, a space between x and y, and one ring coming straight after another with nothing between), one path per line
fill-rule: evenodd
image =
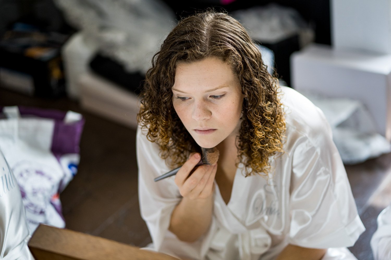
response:
M30 30L26 24L15 28L0 40L1 86L30 96L63 96L61 46L67 35Z

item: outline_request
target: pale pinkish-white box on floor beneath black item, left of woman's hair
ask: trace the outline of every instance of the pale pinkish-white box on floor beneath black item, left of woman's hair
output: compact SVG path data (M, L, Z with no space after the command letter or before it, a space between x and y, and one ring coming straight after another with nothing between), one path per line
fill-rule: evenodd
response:
M119 124L137 128L140 101L136 94L90 72L81 75L78 85L82 108Z

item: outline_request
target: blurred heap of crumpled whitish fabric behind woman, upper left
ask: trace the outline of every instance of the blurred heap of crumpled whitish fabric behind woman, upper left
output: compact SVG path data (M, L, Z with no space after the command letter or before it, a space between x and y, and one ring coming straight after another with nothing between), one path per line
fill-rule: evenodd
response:
M54 0L86 41L124 65L145 73L152 56L176 25L174 13L158 0Z

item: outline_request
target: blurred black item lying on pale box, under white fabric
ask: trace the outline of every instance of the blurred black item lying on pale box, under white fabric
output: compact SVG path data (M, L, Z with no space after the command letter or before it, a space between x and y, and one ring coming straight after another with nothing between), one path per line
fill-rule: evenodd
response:
M134 92L136 95L140 94L142 90L141 84L145 76L139 72L127 72L123 65L111 58L97 53L91 60L90 67L93 72L118 84L120 87Z

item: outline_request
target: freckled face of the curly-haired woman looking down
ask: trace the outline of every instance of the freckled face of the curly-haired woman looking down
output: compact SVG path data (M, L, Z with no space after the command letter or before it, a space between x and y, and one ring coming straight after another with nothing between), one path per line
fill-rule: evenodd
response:
M212 148L239 134L244 95L231 67L208 57L176 66L172 103L197 144Z

